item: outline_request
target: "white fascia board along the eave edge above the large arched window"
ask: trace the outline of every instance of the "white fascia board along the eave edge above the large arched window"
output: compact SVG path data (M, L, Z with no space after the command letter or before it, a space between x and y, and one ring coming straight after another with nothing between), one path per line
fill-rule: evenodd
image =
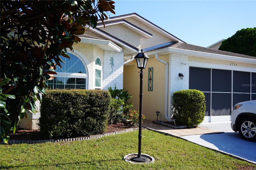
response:
M78 36L79 37L79 36ZM118 45L114 44L113 42L109 40L98 40L93 38L86 38L86 37L79 37L81 38L81 43L92 43L92 44L100 44L100 45L108 45L111 49L113 49L116 52L122 52L123 49L119 47ZM110 50L111 51L111 50Z

